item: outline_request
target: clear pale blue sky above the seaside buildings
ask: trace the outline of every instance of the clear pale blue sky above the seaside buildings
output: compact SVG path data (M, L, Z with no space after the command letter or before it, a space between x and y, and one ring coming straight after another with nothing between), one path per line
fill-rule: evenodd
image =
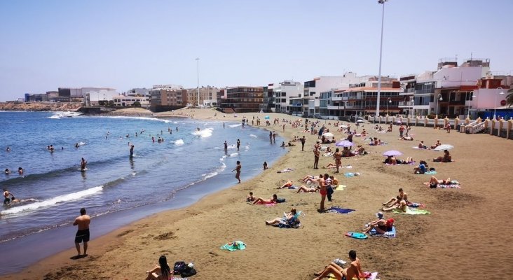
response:
M57 87L196 87L378 75L377 0L0 1L0 101ZM513 74L512 0L389 0L383 76L489 58ZM195 60L199 58L198 64Z

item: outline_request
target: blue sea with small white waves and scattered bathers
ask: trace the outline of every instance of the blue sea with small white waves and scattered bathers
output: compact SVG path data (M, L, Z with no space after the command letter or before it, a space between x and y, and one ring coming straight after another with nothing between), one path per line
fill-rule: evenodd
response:
M73 248L72 223L82 207L92 217L94 239L236 185L238 160L246 181L263 172L264 161L272 165L286 153L280 137L271 144L268 131L242 127L234 117L222 122L11 111L0 112L0 126L0 168L11 170L0 174L0 187L20 200L0 207L0 262L8 264L0 274Z

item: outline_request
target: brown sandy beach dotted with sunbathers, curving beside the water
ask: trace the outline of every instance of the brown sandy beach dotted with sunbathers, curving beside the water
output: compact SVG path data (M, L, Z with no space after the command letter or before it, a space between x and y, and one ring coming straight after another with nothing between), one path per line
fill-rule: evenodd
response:
M151 116L142 109L118 112L123 113ZM513 225L507 223L513 209L513 195L507 187L512 180L509 169L513 164L512 141L487 134L454 131L448 134L427 127L412 127L410 134L415 140L400 141L397 126L392 132L382 134L374 130L374 125L364 123L358 132L364 128L369 136L388 144L368 146L369 141L364 141L364 137L353 138L369 154L343 158L342 164L353 168L341 169L336 178L347 187L335 191L333 202L327 202L326 206L356 211L332 214L317 211L319 193L297 194L296 190L277 189L287 180L299 186L299 179L308 174L334 174L333 169L313 169L312 147L317 135L301 132L304 120L303 127L287 124L283 132L282 119L299 118L278 113L225 116L212 109L182 109L153 116L238 123L242 116L249 123L253 116L258 116L262 129L275 130L280 137L292 139L304 135L305 151L301 151L299 142L287 147L287 155L253 179L245 176L245 162L242 162L242 183L236 184L233 178L226 181L227 185L233 185L231 188L203 197L190 207L144 218L102 237L95 237L93 220L91 232L95 238L90 241L88 257L70 259L76 251L74 237L69 237L69 250L0 279L145 279L146 270L156 265L160 255L166 255L170 265L179 260L194 262L198 274L190 279L313 279L313 273L331 260L349 261L351 249L357 251L362 269L378 272L380 279L466 279L482 277L485 273L488 279L505 279L513 275L513 237L509 234ZM271 118L270 127L265 126L264 116ZM272 126L274 118L280 119L280 125ZM336 131L334 120L320 122L337 140L346 137ZM432 162L442 152L412 148L420 140L430 146L437 139L456 147L450 151L454 162ZM322 146L335 148L334 144ZM430 189L423 185L430 175L413 174L414 165L384 165L382 154L389 150L401 151L403 155L398 158L413 157L417 164L426 160L430 167L436 168L438 179L451 177L461 183L461 188ZM320 167L329 162L334 160L321 157ZM277 173L286 168L294 170ZM346 178L344 172L361 175ZM374 220L381 203L397 195L398 188L404 188L410 201L425 204L423 209L431 214L385 213L386 218L396 221L395 238L359 240L344 236L348 231L361 231L365 223ZM249 205L245 202L249 191L266 199L276 193L287 201L273 207ZM302 228L281 229L264 223L282 216L291 207L306 214L301 217ZM219 249L235 240L244 241L247 248L233 252Z

